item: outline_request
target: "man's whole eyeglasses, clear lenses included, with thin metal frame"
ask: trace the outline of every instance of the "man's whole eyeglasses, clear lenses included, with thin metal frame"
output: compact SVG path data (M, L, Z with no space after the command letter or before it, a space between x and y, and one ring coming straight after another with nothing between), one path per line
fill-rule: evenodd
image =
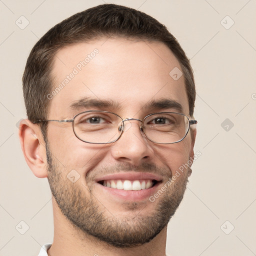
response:
M39 120L34 123L46 121L72 122L73 132L78 139L86 143L107 144L120 138L125 131L124 122L130 120L139 121L140 131L150 141L160 144L177 143L183 140L190 125L197 123L196 120L191 120L186 115L175 112L152 113L140 120L136 118L122 119L118 114L98 110L78 113L73 119Z

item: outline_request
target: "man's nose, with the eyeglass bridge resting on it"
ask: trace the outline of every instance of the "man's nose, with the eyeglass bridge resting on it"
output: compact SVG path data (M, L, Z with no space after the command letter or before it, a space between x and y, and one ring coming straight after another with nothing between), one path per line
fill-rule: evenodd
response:
M149 140L144 135L142 122L135 118L124 119L121 137L111 146L111 154L117 161L138 165L152 157Z

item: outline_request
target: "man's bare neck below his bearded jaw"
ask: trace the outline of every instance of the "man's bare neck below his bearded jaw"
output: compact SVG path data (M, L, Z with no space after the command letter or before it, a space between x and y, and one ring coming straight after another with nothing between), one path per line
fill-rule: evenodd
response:
M49 256L165 256L167 227L164 227L151 241L130 248L114 247L74 227L61 213L54 199L54 238L47 250Z

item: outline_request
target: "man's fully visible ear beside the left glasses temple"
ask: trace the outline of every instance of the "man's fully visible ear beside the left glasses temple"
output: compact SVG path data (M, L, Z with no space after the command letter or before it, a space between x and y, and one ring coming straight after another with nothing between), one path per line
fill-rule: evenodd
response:
M26 163L38 178L47 177L45 142L38 124L28 119L19 123L19 140Z

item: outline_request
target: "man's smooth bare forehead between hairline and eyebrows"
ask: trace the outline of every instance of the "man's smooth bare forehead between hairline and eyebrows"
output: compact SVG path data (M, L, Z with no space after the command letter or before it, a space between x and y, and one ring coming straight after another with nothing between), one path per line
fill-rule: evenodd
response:
M150 111L153 101L167 99L188 114L184 77L173 79L179 70L178 60L161 42L101 38L63 47L53 62L49 117L75 113L75 103L82 108L85 98L112 102L108 110L123 114Z

